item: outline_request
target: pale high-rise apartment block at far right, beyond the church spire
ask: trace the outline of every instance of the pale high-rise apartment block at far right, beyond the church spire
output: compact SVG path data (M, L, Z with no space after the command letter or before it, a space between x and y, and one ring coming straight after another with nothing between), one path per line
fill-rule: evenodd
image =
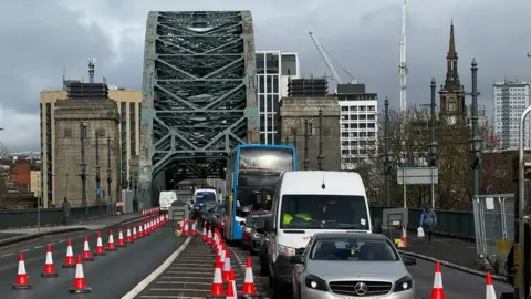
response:
M493 128L500 148L516 148L519 145L520 116L529 106L529 82L499 81L493 84ZM530 147L531 122L525 125L525 147Z

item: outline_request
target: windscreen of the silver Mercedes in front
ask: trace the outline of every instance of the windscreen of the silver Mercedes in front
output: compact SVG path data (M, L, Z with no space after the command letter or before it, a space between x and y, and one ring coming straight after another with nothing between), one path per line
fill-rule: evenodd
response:
M398 261L392 245L384 239L323 238L315 240L310 252L313 260Z

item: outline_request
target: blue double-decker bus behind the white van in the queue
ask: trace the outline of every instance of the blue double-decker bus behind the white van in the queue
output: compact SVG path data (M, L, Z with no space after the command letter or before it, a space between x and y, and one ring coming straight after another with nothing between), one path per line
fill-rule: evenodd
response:
M223 235L241 240L244 221L251 210L271 209L277 179L282 172L298 171L293 146L240 144L228 157Z

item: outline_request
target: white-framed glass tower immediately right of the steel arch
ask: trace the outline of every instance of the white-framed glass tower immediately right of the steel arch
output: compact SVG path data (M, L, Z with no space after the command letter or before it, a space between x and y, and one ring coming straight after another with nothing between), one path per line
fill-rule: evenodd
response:
M300 76L298 53L257 51L260 143L280 144L279 103L288 95L288 82Z

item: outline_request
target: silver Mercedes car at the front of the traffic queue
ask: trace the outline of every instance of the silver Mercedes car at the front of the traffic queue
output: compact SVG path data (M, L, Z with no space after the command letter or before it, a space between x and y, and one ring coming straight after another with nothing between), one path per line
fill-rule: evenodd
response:
M293 295L299 299L415 299L415 283L391 240L378 234L319 233L302 256L292 256Z

